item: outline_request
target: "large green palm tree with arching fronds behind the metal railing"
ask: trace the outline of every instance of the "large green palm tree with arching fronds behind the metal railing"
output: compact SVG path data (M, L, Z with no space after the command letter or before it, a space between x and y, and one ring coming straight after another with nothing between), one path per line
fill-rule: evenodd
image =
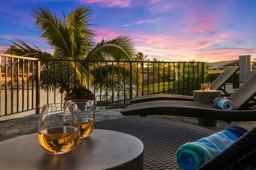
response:
M133 60L134 42L128 36L119 36L113 40L102 39L97 44L94 42L93 38L96 33L89 29L91 25L88 23L90 21L90 11L90 7L80 6L67 17L63 12L63 18L57 18L55 12L52 14L43 6L34 8L32 16L36 19L35 25L40 27L43 32L40 38L46 39L47 44L52 46L54 49L53 55L43 53L38 48L31 48L22 40L12 41L18 46L19 50L10 48L7 53L41 59ZM36 52L37 55L33 52ZM97 75L93 75L93 71L95 73L97 69L97 65L92 66L75 61L48 62L47 65L43 63L40 85L43 89L59 88L61 92L65 92L65 100L72 98L92 99L92 92L86 87L92 82L97 84L102 79L102 77L98 78ZM50 77L49 79L51 75L55 75L55 78ZM105 74L105 76L108 76L108 74Z

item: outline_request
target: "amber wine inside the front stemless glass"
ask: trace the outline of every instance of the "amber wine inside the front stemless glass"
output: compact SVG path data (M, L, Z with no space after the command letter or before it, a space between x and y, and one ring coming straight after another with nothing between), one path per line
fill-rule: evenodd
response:
M79 129L70 126L44 129L39 131L38 141L49 154L64 154L79 141Z

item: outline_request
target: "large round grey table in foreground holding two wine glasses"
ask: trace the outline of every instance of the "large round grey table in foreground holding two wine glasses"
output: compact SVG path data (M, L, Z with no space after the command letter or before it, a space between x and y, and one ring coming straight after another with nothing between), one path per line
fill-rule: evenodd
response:
M143 169L143 143L129 134L94 129L72 151L47 154L38 134L0 142L0 169Z

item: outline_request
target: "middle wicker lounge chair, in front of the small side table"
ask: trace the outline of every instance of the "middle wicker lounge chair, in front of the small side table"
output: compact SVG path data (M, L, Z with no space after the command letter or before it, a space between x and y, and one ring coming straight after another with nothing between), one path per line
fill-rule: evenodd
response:
M235 110L225 111L214 104L195 101L161 100L147 101L127 106L121 113L125 116L133 115L173 115L207 118L212 120L256 121L256 110L248 109L248 103L256 96L256 73L253 73L228 100L233 101Z

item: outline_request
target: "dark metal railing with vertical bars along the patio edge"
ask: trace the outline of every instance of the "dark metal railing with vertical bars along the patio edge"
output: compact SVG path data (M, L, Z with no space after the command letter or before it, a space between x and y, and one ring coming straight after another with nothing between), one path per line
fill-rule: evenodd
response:
M0 56L0 116L28 111L39 113L43 104L64 103L65 97L74 97L65 93L72 91L67 86L70 83L92 92L98 109L123 108L129 105L131 98L140 95L193 95L193 90L204 83L204 62L76 61Z

